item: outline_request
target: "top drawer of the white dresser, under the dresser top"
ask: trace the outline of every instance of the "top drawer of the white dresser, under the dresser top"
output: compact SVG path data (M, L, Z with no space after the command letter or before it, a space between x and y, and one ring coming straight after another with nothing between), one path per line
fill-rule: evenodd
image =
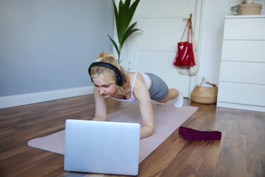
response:
M265 18L226 19L223 39L265 39Z

